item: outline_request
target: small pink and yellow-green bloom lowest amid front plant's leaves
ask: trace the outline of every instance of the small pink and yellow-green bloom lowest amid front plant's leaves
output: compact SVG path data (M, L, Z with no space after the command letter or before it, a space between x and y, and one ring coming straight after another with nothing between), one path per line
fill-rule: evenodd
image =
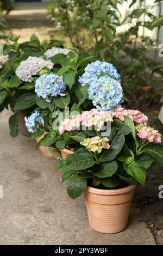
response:
M92 152L101 153L102 149L110 148L110 145L108 142L109 142L108 138L106 137L101 138L96 136L96 137L84 139L84 141L80 142L80 144Z

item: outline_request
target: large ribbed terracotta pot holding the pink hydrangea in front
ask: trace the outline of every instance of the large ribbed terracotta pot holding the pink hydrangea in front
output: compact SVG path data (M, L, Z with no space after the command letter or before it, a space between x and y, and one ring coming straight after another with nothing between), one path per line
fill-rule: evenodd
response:
M84 197L90 227L100 233L114 234L127 227L135 185L117 190L86 187Z

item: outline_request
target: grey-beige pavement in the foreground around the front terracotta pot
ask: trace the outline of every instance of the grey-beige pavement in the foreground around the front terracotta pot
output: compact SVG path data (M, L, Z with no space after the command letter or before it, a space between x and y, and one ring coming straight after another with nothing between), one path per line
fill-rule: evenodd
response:
M69 198L61 184L58 161L35 150L32 138L10 137L10 115L0 113L0 245L155 245L134 205L122 233L93 231L83 196Z

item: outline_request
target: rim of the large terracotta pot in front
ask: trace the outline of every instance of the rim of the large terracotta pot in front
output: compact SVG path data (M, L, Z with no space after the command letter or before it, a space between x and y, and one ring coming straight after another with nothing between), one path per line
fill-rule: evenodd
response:
M126 193L134 190L136 188L136 186L137 185L130 185L127 187L118 188L117 190L101 190L99 188L87 186L85 190L92 194L99 194L99 195L104 195L104 196L116 196L118 194L126 194Z

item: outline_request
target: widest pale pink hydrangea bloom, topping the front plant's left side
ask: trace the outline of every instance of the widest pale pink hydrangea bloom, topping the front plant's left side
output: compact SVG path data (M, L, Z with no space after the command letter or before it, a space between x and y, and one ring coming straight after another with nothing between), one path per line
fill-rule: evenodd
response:
M95 126L96 130L100 131L103 124L107 121L112 121L110 112L103 112L93 108L90 111L84 111L80 115L74 115L73 117L62 121L59 127L59 132L62 135L65 131L76 130L80 125L86 127Z

